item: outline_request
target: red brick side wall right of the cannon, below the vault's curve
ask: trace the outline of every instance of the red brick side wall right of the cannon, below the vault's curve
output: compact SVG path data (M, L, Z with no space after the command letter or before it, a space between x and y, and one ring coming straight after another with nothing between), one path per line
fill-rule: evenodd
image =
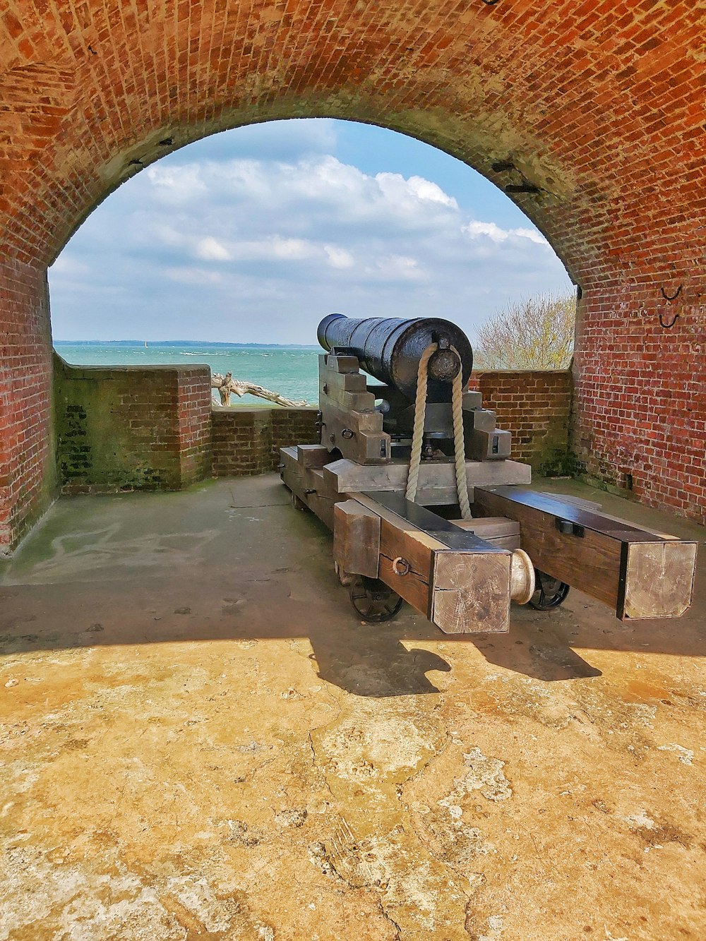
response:
M679 297L666 300L662 288L673 295L680 284ZM698 298L706 302L706 290L694 278L585 297L573 445L586 481L704 522L706 306ZM676 314L672 327L660 324Z

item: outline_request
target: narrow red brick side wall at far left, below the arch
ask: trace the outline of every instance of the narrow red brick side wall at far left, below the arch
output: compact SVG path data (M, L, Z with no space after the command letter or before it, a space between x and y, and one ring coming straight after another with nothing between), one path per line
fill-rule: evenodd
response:
M56 493L51 358L45 273L0 263L0 555Z

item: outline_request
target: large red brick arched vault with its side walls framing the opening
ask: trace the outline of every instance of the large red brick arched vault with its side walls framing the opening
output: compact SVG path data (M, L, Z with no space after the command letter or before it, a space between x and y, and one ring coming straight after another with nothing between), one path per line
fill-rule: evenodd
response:
M579 469L703 518L705 20L669 0L10 2L0 544L54 488L46 264L170 147L299 116L371 121L536 187L514 199L583 292Z

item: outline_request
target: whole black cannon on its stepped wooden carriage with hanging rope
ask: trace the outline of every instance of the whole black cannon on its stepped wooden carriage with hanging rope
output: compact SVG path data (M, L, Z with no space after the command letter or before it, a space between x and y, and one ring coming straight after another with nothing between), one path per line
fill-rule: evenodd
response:
M333 531L363 619L407 601L444 633L503 632L511 602L551 611L570 586L621 620L688 610L697 544L529 489L510 433L467 389L459 327L337 313L318 339L320 441L282 448L281 478Z

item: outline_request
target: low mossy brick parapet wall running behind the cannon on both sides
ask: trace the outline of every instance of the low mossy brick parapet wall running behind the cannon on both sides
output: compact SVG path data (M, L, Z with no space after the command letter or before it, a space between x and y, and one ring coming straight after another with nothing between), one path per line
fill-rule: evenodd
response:
M570 467L568 371L473 374L512 432L512 457ZM207 366L72 366L56 357L56 469L62 493L177 490L208 476L275 470L280 448L318 440L316 407L212 407Z

